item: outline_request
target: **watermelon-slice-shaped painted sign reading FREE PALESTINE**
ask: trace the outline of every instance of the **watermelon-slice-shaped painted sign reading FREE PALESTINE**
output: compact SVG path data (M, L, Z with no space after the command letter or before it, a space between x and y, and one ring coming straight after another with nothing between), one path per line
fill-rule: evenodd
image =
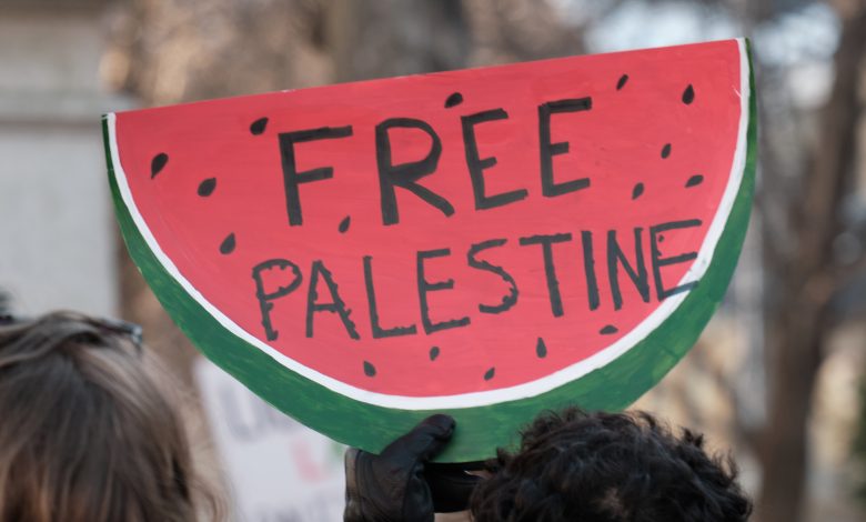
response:
M692 347L748 221L744 40L104 118L129 250L181 329L270 403L444 461L541 410L621 409Z

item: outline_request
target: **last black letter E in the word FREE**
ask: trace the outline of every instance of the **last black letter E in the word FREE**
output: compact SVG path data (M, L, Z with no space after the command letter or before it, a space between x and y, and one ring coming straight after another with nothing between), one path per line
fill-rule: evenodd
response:
M566 194L590 187L590 178L556 183L553 180L553 157L568 152L567 141L551 142L551 117L561 112L588 111L593 107L590 97L548 101L538 106L538 143L541 149L542 193L547 198Z

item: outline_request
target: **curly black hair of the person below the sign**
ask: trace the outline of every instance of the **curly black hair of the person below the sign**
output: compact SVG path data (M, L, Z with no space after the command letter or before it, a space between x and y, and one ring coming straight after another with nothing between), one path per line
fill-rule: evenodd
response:
M545 413L520 451L499 450L475 488L475 522L745 521L752 503L729 456L651 414Z

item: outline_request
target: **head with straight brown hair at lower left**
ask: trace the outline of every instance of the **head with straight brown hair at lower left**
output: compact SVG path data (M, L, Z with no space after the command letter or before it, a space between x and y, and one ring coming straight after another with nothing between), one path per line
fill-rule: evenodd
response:
M195 519L184 428L133 333L0 320L0 521Z

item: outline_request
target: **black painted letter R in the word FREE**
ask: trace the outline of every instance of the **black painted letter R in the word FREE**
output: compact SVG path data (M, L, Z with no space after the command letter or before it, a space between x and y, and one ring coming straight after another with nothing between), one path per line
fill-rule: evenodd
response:
M389 131L394 128L419 129L427 134L432 141L427 155L419 161L402 164L393 164L391 158L391 138ZM382 204L382 222L395 224L400 222L396 194L394 187L409 190L422 200L439 209L443 214L454 213L454 207L449 201L416 183L420 179L436 171L439 157L442 155L442 141L425 121L412 118L391 118L376 126L376 165L379 168L379 188Z

